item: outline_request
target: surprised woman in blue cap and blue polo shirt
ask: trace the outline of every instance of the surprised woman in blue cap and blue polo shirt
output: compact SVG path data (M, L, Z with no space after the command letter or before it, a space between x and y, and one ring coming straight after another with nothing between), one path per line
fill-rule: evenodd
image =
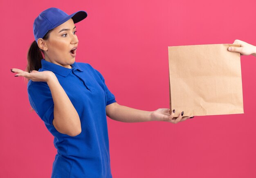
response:
M182 117L183 112L173 117L175 110L168 108L144 111L119 105L101 73L75 61L79 41L74 24L86 17L85 11L41 12L34 21L26 70L11 69L28 79L30 105L54 136L52 178L112 178L106 116L122 122L171 123L190 117Z

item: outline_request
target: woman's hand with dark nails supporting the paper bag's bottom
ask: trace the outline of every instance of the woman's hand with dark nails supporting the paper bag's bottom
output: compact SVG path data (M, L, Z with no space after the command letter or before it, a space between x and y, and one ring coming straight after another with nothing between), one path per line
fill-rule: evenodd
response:
M173 110L175 112L175 110ZM180 113L178 117L173 117L174 112L170 113L168 108L159 108L151 113L151 121L166 121L171 123L179 123L185 121L188 118L193 118L193 116L182 117L184 113Z

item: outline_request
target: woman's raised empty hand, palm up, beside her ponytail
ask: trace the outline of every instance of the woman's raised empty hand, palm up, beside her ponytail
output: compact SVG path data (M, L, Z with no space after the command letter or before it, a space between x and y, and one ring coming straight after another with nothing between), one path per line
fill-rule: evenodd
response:
M45 81L47 82L51 77L54 77L55 74L52 71L45 70L38 72L37 70L32 70L31 73L28 73L24 70L18 68L12 68L11 72L17 73L15 76L22 76L32 81Z

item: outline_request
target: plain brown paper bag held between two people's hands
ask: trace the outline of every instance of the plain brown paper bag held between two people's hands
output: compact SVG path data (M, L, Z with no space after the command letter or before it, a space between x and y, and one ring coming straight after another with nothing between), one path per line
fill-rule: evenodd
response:
M240 44L168 46L170 110L174 117L243 114Z

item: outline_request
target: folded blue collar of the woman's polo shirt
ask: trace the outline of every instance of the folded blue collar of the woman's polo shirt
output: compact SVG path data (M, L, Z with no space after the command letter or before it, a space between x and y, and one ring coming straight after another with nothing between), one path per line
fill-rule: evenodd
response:
M41 59L42 68L50 70L54 73L57 73L63 77L67 77L67 75L71 72L71 70L80 70L83 72L79 64L74 62L74 64L71 64L72 68L65 68L63 66L60 66L58 64L54 64L52 62L48 62L45 59Z

